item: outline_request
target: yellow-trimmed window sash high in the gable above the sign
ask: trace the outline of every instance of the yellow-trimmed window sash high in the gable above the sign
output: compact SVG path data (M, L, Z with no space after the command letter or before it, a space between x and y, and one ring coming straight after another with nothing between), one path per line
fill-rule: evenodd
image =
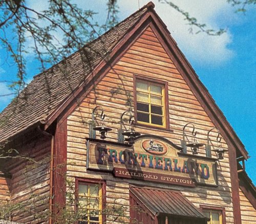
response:
M164 85L136 81L137 122L165 127Z

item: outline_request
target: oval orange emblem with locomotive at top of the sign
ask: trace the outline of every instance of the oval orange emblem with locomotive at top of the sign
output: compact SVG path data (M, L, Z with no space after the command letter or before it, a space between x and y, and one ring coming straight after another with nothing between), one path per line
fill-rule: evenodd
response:
M159 140L153 140L153 139L147 139L142 142L142 147L152 154L164 154L167 151L167 146L159 141Z

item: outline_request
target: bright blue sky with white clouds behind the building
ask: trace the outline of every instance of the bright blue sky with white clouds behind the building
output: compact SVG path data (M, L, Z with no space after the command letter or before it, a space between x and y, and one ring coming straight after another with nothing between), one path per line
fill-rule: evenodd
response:
M32 7L44 9L47 1L27 1ZM99 12L95 20L105 21L106 8L102 0L76 0L82 8ZM140 7L148 1L140 0ZM206 34L191 34L181 14L172 8L153 1L155 10L167 25L178 46L191 63L200 80L207 87L217 105L245 145L251 158L246 162L246 171L256 183L254 164L256 162L256 7L250 7L245 14L234 13L235 9L224 0L174 0L184 11L196 17L209 28L226 28L227 32L218 37ZM118 1L119 20L138 10L138 0ZM194 30L196 32L196 29ZM10 93L2 80L13 80L15 67L5 63L5 51L0 46L0 91ZM29 82L38 63L33 54L27 56ZM12 96L0 97L0 110Z

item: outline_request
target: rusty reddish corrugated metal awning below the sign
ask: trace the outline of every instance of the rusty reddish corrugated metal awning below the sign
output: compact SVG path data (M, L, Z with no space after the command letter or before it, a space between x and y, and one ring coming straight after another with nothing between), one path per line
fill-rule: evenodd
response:
M145 206L154 216L168 214L171 216L207 219L179 191L143 187L132 187L130 191L136 197L138 203Z

